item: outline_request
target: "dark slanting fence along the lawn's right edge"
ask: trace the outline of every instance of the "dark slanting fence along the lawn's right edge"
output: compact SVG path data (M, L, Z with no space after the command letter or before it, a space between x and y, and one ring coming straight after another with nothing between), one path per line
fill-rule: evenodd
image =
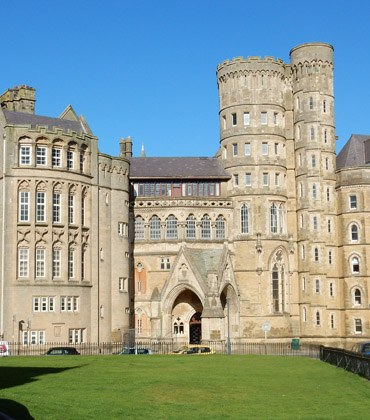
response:
M344 349L322 346L320 349L320 360L370 379L370 356L363 356L360 353Z

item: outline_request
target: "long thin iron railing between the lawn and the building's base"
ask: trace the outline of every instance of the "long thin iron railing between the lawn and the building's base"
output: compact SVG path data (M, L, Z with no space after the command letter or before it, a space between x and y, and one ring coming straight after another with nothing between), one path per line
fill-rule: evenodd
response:
M186 344L186 343L183 343ZM51 347L74 347L81 355L109 355L119 353L125 347L150 348L154 354L171 354L174 350L181 347L181 343L174 341L143 340L127 343L45 343L27 346L13 342L8 343L9 352L12 356L41 356ZM212 341L207 343L214 348L218 354L227 354L227 344L225 341ZM281 342L231 342L231 354L257 354L257 355L277 355L277 356L304 356L319 358L320 346L316 344L302 343L299 346L292 346L291 343Z

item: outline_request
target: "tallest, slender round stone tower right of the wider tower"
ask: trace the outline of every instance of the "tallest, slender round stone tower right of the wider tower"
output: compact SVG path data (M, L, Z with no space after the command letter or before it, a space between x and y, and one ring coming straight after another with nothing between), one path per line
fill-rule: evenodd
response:
M303 44L293 48L290 57L298 270L302 284L307 284L307 291L303 292L305 300L310 299L310 308L320 319L325 316L321 313L325 299L322 291L332 290L337 277L334 261L338 261L335 256L333 47L324 43Z

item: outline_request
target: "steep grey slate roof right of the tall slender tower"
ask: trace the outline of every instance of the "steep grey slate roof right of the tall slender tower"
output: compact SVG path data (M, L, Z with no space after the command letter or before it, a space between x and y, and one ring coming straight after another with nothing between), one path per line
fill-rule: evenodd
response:
M370 136L352 134L337 156L337 169L370 164Z

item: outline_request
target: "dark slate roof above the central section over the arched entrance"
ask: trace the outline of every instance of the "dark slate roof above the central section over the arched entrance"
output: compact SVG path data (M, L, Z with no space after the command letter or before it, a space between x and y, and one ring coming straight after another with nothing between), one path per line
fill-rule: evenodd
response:
M130 178L230 179L230 175L210 157L133 157Z

